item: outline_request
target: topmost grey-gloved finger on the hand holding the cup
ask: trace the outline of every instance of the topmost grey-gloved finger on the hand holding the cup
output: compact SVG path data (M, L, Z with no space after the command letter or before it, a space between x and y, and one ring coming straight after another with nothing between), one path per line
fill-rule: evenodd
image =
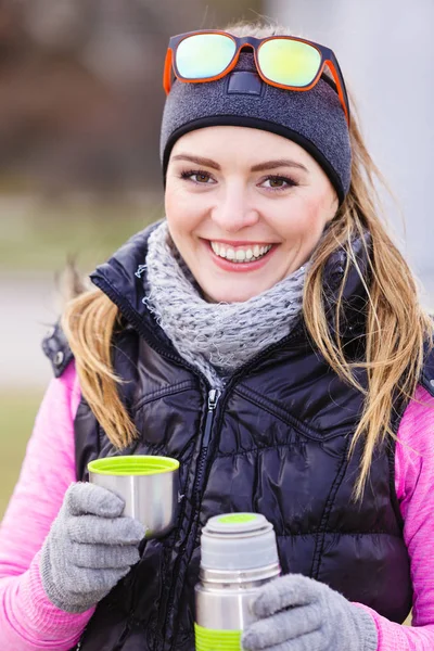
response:
M125 501L119 495L85 482L69 486L64 502L72 515L91 513L102 518L117 518L125 508Z

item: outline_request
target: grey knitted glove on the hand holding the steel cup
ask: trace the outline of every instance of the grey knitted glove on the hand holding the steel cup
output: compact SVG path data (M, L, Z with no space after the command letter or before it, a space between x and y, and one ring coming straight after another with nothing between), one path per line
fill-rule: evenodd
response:
M120 516L124 500L94 484L72 484L40 557L50 601L68 613L94 605L140 559L144 526Z

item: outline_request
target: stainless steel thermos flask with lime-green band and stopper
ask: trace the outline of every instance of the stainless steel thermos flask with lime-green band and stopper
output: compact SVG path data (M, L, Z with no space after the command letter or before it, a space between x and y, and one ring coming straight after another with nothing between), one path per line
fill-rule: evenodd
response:
M239 651L243 629L255 621L251 604L258 588L279 574L275 531L264 515L210 518L202 531L195 586L196 651Z

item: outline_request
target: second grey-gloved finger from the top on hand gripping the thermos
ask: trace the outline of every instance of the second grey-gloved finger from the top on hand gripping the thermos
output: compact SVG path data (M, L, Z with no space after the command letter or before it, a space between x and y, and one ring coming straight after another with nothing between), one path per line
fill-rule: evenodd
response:
M316 604L303 605L255 622L245 630L242 641L246 649L269 649L320 627L320 609Z

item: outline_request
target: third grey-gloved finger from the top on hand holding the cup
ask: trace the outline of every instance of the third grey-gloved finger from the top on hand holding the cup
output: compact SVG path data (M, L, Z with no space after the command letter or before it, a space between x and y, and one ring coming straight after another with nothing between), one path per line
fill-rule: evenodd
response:
M85 545L73 542L69 550L69 562L76 567L93 567L94 570L118 569L136 565L140 553L133 545Z

